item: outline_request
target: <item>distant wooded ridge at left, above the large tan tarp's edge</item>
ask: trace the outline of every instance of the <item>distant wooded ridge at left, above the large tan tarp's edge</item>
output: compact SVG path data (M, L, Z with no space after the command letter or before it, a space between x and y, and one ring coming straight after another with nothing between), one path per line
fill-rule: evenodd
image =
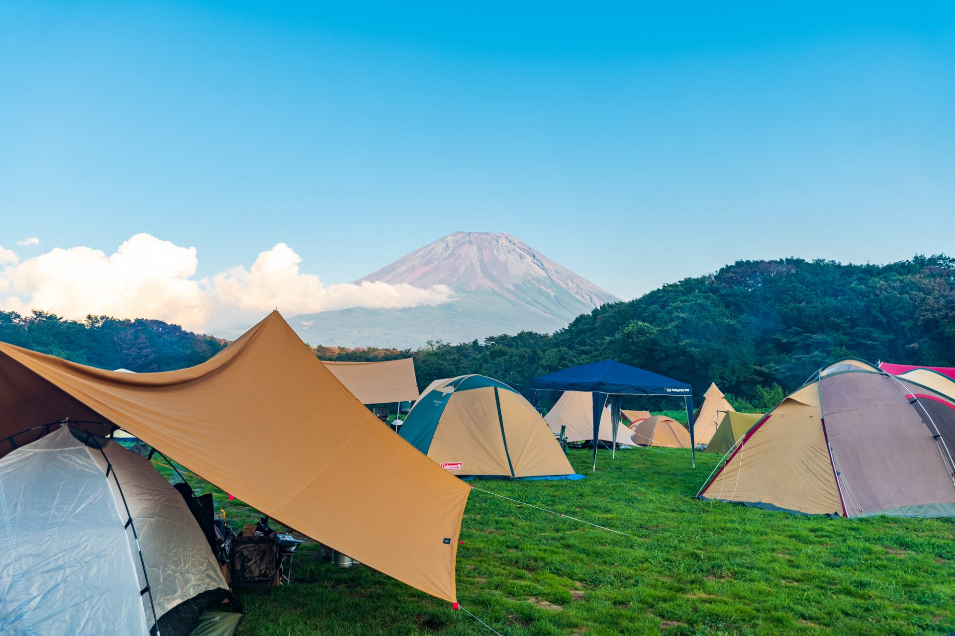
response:
M0 311L0 341L100 369L171 371L208 360L226 345L161 320L87 316L83 322L34 311Z

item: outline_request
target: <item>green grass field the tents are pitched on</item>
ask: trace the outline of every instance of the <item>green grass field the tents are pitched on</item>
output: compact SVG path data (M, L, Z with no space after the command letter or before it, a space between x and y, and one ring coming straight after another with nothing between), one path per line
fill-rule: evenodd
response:
M700 501L716 456L698 454L694 470L689 451L602 452L591 475L589 455L571 451L582 481L473 482L630 535L473 491L457 591L501 634L955 631L953 519L810 518ZM216 503L230 520L257 518L239 502ZM314 544L300 549L294 578L239 593L240 634L490 633L369 567L320 560Z

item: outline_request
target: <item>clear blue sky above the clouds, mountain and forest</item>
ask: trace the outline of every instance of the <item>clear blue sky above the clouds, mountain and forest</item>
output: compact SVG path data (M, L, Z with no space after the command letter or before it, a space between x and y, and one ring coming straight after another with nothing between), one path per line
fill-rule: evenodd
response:
M20 259L145 232L202 276L285 242L341 283L504 231L631 298L955 251L949 3L13 4Z

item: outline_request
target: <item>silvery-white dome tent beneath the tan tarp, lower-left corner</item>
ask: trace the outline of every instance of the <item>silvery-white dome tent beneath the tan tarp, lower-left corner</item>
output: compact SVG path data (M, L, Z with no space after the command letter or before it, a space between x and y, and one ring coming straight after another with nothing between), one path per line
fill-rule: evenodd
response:
M0 633L145 636L159 618L179 636L229 594L185 499L115 441L60 426L0 459L0 484Z

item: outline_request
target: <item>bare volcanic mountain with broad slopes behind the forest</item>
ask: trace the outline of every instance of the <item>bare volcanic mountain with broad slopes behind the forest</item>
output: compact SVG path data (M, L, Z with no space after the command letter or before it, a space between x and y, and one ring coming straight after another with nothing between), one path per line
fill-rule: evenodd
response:
M307 342L419 347L520 330L553 331L618 300L510 234L456 232L356 282L447 285L456 299L434 307L351 308L289 320Z

